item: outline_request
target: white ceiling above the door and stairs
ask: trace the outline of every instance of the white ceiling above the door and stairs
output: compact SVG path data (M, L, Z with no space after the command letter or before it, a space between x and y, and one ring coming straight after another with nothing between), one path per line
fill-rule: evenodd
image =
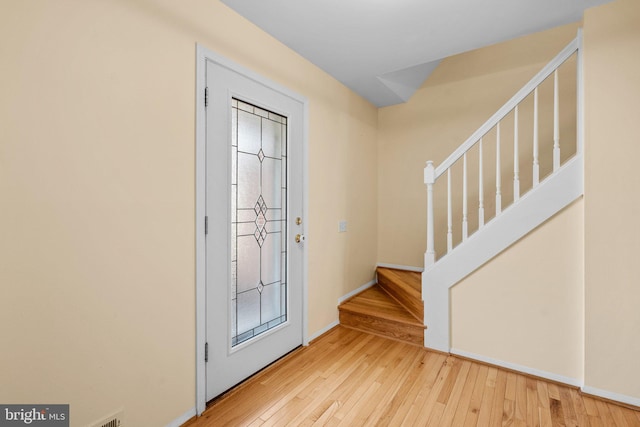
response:
M221 0L378 107L439 61L576 22L610 0Z

